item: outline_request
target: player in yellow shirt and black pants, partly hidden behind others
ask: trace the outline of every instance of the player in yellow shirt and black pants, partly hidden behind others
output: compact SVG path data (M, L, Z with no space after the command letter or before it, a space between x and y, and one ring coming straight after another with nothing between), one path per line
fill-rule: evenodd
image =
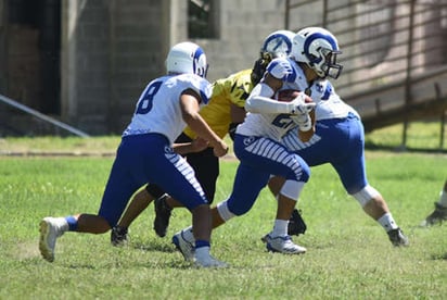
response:
M254 85L259 83L268 63L273 58L285 57L290 53L294 35L290 30L271 33L265 38L259 51L259 59L255 62L253 70L240 71L213 84L213 95L209 103L201 110L200 114L220 138L224 138L227 133L231 137L234 136L235 127L245 117L245 100ZM191 142L195 138L196 134L187 127L176 142ZM201 183L209 203L213 203L219 175L218 158L214 155L212 148L199 152L189 152L184 157L194 168L195 176ZM128 227L154 199L154 229L161 237L166 235L171 210L181 204L165 193L163 189L150 183L135 196L118 225L113 228L111 241L114 246L127 241ZM303 234L306 229L305 226L299 213L295 210L290 222L289 234Z

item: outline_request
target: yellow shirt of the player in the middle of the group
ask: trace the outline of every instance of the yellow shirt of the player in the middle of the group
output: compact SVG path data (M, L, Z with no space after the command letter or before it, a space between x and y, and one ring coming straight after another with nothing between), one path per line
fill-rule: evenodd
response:
M231 103L244 108L245 100L253 89L251 74L250 68L217 79L213 84L213 95L208 104L200 111L201 116L220 138L227 135L231 123ZM183 133L191 139L197 136L190 127L187 127Z

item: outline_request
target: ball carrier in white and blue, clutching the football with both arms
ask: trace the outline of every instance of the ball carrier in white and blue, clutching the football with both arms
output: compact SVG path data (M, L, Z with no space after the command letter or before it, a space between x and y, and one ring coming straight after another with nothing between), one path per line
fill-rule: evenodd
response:
M331 62L335 62L336 51L332 49L327 53L334 55ZM330 65L328 73L337 75L339 68L336 64ZM233 147L240 164L230 197L212 209L213 228L248 212L270 177L280 176L285 182L277 197L277 216L273 230L266 236L267 248L285 254L306 252L306 248L292 241L288 225L299 193L309 179L310 170L299 155L281 145L281 139L288 133L293 133L305 141L314 134L311 108L315 103L307 103L306 100L311 99L303 92L315 79L310 75L289 57L276 58L268 64L263 79L254 87L245 103L247 116L237 128ZM281 90L302 92L295 100L282 102L276 100L276 95ZM193 258L194 237L191 227L177 233L173 242L186 260Z

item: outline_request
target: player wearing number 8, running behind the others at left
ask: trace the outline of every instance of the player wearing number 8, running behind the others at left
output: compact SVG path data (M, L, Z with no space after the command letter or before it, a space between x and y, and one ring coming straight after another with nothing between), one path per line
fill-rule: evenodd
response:
M65 232L108 232L117 224L130 197L150 182L190 210L196 238L194 263L201 267L226 266L209 253L209 201L192 167L173 149L174 140L188 125L213 147L216 157L228 152L226 142L199 114L200 105L206 104L212 93L205 79L206 55L197 45L180 42L170 49L166 67L168 74L150 82L137 102L132 120L123 133L98 214L48 216L40 222L39 249L47 261L54 261L56 239Z

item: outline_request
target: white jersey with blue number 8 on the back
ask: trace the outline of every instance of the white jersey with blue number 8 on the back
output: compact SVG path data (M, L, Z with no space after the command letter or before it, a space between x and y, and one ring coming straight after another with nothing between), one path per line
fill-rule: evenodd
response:
M187 126L180 108L180 96L187 89L197 92L202 103L208 102L213 91L208 80L194 74L168 75L149 83L123 137L158 133L174 143Z

